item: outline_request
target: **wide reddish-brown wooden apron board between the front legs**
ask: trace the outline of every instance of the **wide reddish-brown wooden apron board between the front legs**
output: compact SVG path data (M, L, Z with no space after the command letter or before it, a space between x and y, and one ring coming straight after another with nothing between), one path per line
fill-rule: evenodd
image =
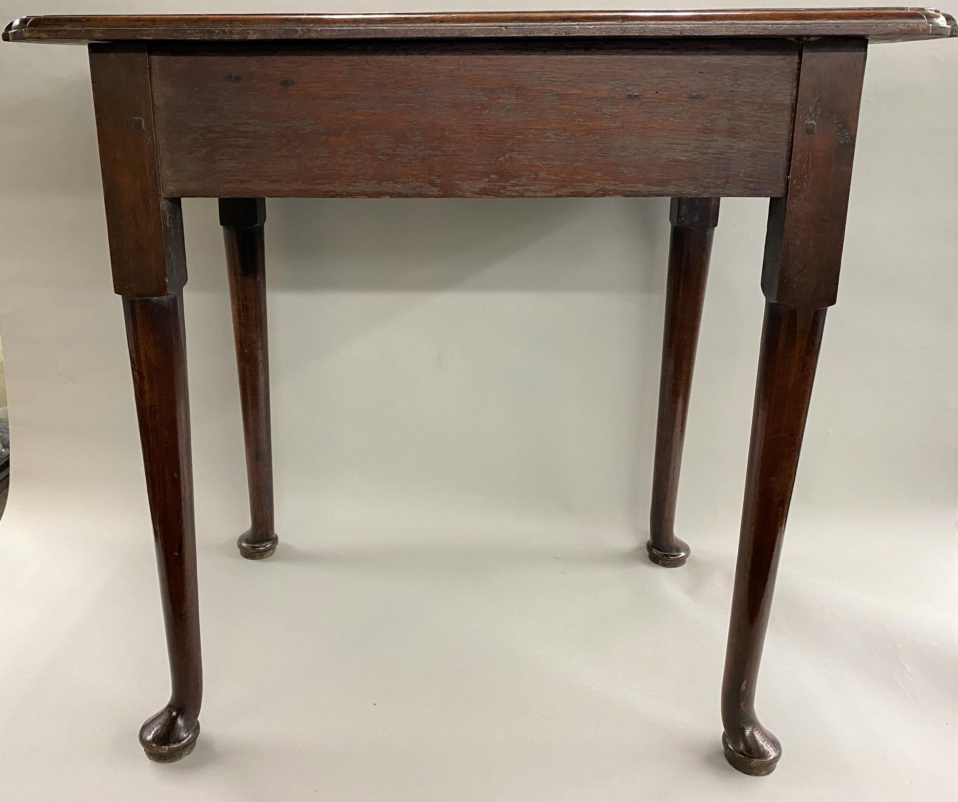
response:
M769 197L798 45L168 46L150 65L168 196Z

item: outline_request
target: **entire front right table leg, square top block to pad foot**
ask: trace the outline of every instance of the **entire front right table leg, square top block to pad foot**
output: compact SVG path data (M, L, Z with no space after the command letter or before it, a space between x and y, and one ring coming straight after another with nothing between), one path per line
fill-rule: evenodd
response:
M769 205L765 323L722 680L725 756L748 774L771 772L782 754L755 713L755 688L825 307L838 285L865 51L856 39L804 45L788 192Z

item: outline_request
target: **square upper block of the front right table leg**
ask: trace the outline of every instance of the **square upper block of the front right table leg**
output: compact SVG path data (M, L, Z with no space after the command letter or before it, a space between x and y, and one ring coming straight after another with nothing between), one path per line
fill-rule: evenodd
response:
M765 235L769 301L819 309L837 298L866 48L861 39L802 45L788 189L772 200Z

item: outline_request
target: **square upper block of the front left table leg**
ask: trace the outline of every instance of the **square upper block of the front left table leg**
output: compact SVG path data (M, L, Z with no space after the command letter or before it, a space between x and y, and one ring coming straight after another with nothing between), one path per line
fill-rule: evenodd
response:
M178 199L160 191L146 45L90 45L113 287L129 298L186 283Z

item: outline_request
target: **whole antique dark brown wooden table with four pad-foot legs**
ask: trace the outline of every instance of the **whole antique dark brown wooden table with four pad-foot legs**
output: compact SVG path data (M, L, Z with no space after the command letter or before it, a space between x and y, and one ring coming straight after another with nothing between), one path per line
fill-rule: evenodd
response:
M736 769L781 755L754 708L825 311L835 301L869 42L958 34L921 9L25 17L89 46L116 292L170 652L140 730L188 754L202 695L180 198L219 198L252 525L273 553L264 197L672 197L650 559L673 521L721 196L770 198L765 317L722 684Z

